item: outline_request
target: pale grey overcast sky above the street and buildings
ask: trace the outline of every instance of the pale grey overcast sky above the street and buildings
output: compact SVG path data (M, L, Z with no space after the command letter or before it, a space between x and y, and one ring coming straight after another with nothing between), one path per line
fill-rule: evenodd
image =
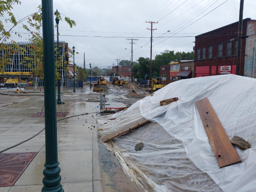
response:
M41 0L21 1L21 5L13 6L17 20L36 12L36 7L41 4ZM193 51L195 35L238 21L240 0L225 1L53 0L53 10L58 9L60 13L76 22L72 29L64 21L59 23L60 35L75 35L59 36L60 41L67 42L70 48L74 45L75 51L79 52L75 55L75 63L83 66L85 52L87 68L89 63L105 68L113 66L113 63L117 64L115 59L130 60L131 51L128 49L131 49L131 40L126 38L138 39L133 45L134 61L139 57L150 57L150 30L147 30L150 24L145 21L158 21L153 25L153 29L157 30L153 32L152 58L164 50ZM245 0L243 18L256 19L255 8L255 0ZM199 20L196 21L197 19ZM14 30L24 32L21 27L22 25L19 25ZM167 32L168 30L170 32ZM173 37L170 37L172 35ZM159 36L170 38L157 38ZM26 34L22 34L22 38L14 34L11 37L16 42L24 42L26 38Z

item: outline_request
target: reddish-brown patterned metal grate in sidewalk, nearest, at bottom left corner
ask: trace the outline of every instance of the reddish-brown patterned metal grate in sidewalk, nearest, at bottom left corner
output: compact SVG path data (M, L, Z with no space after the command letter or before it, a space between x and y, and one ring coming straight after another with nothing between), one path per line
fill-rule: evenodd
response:
M0 154L0 187L13 186L37 153Z

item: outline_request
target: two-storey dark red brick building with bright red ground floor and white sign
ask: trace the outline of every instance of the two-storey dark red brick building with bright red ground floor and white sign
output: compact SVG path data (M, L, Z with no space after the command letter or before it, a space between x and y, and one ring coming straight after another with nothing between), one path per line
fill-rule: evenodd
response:
M238 22L197 35L195 38L194 77L236 74ZM256 77L256 20L243 19L240 75Z

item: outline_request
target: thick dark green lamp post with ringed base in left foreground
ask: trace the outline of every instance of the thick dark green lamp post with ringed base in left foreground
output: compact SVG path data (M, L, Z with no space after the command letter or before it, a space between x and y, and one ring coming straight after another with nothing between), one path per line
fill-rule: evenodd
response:
M53 0L42 0L46 163L42 192L64 192L57 150Z

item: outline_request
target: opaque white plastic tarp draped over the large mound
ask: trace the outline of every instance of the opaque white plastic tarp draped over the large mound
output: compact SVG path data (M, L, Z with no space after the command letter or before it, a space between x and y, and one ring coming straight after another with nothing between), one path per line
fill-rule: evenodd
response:
M160 106L159 101L173 97L179 100ZM228 137L231 139L237 135L251 144L251 148L245 151L235 147L242 163L220 169L195 106L196 101L205 97L208 97ZM256 79L229 74L176 81L115 117L115 121L102 128L102 135L118 130L123 122L144 117L157 122L172 137L182 141L187 158L224 192L256 191ZM156 181L153 178L151 182ZM170 191L160 186L153 188L155 191Z

